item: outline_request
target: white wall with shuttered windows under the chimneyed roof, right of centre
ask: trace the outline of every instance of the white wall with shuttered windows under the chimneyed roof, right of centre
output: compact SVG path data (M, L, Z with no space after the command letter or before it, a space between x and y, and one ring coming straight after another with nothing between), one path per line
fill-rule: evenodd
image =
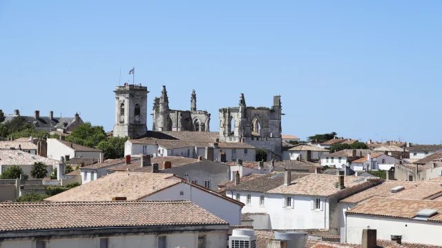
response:
M312 209L313 196L291 196L291 207L285 206L285 197L281 194L261 194L256 192L228 191L227 196L245 204L243 213L267 213L270 216L271 229L328 229L329 203L321 198L322 209ZM251 194L251 203L247 204L247 194ZM260 205L260 196L265 196L264 206Z

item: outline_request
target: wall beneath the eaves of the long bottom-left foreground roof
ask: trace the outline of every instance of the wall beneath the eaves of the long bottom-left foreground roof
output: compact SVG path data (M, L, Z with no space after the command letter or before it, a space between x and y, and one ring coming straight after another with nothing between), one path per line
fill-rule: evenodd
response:
M198 235L206 236L207 248L225 248L227 234L208 232L208 233L180 233L180 234L167 234L166 235L166 247L175 248L182 247L195 247L198 248ZM99 248L100 238L104 237L75 237L75 238L51 238L46 242L46 248L64 247L64 248L78 248L78 247L90 247ZM147 235L118 235L110 236L108 238L108 247L131 247L131 248L155 248L157 247L158 236L153 234ZM3 241L2 247L10 248L34 248L36 246L35 240L17 240L17 241Z

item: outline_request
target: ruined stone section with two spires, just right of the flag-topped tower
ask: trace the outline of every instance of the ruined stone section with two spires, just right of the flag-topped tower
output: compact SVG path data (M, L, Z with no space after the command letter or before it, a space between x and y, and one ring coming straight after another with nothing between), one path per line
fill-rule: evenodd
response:
M161 97L153 102L153 131L200 131L209 132L209 112L196 109L196 94L191 94L191 110L169 109L169 97L163 85Z

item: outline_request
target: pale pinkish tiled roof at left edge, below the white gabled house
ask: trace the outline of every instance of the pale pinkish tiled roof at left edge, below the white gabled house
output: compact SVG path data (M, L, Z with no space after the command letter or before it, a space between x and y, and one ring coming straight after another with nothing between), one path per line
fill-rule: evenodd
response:
M0 149L0 165L34 165L35 162L41 162L52 166L59 164L59 161L54 159L29 154L28 152Z

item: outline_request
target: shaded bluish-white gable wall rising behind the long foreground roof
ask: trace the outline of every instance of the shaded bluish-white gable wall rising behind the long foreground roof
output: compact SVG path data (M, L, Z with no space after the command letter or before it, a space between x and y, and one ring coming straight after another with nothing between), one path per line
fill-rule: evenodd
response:
M183 195L180 195L183 192ZM226 220L230 225L241 225L241 206L229 200L205 192L198 187L189 187L180 183L156 192L142 200L191 200L215 216ZM225 244L224 244L225 245Z

